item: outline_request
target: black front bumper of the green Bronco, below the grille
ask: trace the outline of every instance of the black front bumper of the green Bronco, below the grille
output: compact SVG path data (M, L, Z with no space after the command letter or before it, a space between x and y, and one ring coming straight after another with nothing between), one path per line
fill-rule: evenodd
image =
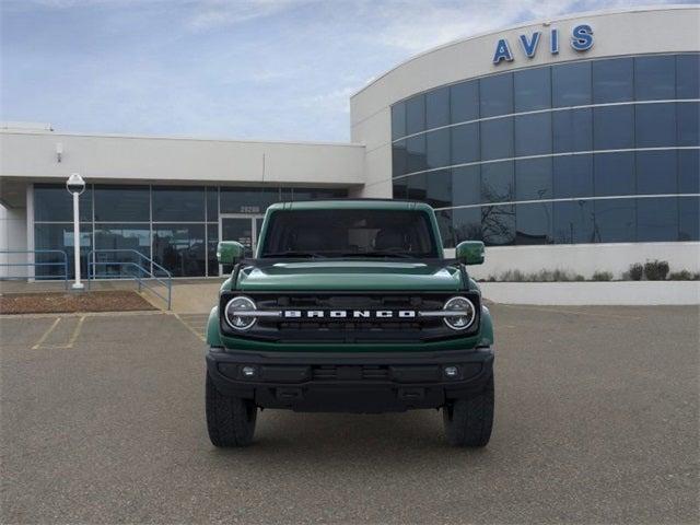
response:
M445 366L458 374L447 377ZM253 368L246 377L244 368ZM262 408L386 412L438 408L483 388L493 350L411 353L242 352L212 348L207 370L226 395Z

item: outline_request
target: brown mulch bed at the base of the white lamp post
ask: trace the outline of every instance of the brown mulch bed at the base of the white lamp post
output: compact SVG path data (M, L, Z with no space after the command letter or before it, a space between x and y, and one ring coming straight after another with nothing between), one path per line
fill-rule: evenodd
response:
M0 314L133 312L140 310L156 308L130 290L0 294Z

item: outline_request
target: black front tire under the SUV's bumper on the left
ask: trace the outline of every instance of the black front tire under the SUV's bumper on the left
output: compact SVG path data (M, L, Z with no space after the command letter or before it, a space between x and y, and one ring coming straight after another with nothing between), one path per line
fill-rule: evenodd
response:
M207 430L214 446L253 443L258 409L250 399L224 396L207 373Z

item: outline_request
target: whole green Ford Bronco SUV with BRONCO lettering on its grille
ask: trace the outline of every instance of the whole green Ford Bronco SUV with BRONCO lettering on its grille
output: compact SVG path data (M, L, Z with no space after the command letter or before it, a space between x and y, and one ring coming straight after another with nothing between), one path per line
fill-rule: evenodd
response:
M483 446L493 421L493 328L466 265L445 259L424 203L337 200L268 208L255 258L233 265L207 326L207 425L215 446L253 441L258 408L442 409L447 440Z

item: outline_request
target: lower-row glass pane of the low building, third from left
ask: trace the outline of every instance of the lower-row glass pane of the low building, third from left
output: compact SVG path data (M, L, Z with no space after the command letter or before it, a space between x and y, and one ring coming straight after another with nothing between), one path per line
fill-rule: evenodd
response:
M203 224L153 226L153 260L173 277L203 277L207 244Z

